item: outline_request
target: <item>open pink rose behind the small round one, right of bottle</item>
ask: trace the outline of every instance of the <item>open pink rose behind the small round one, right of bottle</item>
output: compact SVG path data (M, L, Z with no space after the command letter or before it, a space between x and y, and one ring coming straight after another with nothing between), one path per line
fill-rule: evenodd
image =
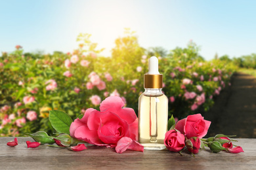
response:
M207 134L210 124L210 121L203 120L201 114L193 114L177 122L175 129L181 131L188 139L190 137L201 139Z

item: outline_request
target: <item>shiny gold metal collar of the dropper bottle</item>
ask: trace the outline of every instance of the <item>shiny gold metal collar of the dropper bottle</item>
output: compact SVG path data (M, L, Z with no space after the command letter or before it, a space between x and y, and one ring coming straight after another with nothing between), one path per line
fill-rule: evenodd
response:
M163 88L163 75L144 75L144 88Z

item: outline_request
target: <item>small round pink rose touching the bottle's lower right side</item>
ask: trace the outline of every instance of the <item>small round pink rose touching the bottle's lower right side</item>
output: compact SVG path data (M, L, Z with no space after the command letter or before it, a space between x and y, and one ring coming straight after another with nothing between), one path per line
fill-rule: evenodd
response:
M179 152L185 146L185 137L179 131L172 129L165 133L164 144L168 150Z

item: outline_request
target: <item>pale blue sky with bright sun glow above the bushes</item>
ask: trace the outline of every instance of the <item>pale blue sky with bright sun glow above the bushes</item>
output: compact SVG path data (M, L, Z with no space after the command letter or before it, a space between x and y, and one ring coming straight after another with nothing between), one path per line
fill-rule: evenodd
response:
M140 46L173 50L190 40L209 60L256 53L256 1L247 0L9 0L0 1L0 52L72 52L79 33L111 56L125 27Z

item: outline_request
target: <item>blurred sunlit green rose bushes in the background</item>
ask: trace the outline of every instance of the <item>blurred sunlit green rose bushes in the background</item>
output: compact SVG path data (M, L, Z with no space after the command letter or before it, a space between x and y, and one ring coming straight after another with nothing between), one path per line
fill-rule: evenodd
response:
M125 107L131 107L138 112L139 95L144 92L143 75L148 72L148 58L158 57L160 73L163 74L163 92L175 101L169 101L169 117L179 119L194 114L200 110L209 110L213 105L216 90L228 86L230 76L236 69L232 63L223 59L204 61L198 54L200 48L194 42L189 42L186 48L175 48L169 54L161 47L146 50L139 45L135 33L125 29L125 36L116 39L116 46L112 49L111 57L102 57L97 44L90 40L91 35L79 34L79 46L72 54L54 52L42 54L38 52L25 53L18 48L11 54L3 53L0 57L0 134L23 135L35 131L45 131L53 134L54 129L61 133L69 133L68 124L72 120L81 118L88 108L98 109L92 97L97 96L100 101L110 95L118 95L125 102ZM72 60L69 66L66 60ZM87 65L81 65L85 61ZM70 71L71 76L64 76ZM93 85L92 75L98 77L103 84ZM107 75L110 75L109 78ZM203 80L202 77L203 76ZM213 78L217 77L217 81ZM191 84L183 84L182 80L189 78ZM97 78L96 78L97 79ZM56 87L49 90L49 80L56 82ZM104 86L104 84L106 86ZM202 86L199 91L197 86ZM75 91L79 89L78 91ZM186 92L195 92L194 99L186 99ZM204 95L205 101L199 105L199 96ZM24 103L25 97L34 97L34 101ZM20 104L18 105L18 103ZM192 110L192 105L198 109ZM5 109L5 105L9 109ZM53 120L62 120L56 111L63 110L68 124L58 127ZM37 119L31 120L29 111L37 113ZM82 114L81 114L82 113ZM66 114L65 114L66 115ZM10 117L9 117L10 116ZM21 124L17 124L21 122Z

